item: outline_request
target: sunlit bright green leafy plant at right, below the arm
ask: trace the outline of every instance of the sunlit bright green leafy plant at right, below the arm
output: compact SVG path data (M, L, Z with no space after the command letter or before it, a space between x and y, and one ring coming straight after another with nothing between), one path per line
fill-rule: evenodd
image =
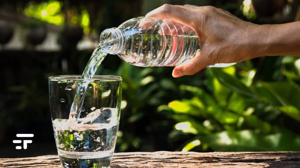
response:
M186 138L182 151L295 151L300 136L283 118L300 121L298 59L281 59L282 81L262 81L252 66L207 68L205 88L181 85L190 99L174 100L158 107L178 123L170 138ZM240 75L237 75L240 74ZM279 75L280 76L280 75ZM281 76L282 78L282 76ZM286 78L286 80L285 80ZM182 139L181 139L182 141Z

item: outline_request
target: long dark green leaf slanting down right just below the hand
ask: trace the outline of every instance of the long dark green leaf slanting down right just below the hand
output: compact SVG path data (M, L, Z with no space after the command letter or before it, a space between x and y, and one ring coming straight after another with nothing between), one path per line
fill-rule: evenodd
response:
M256 98L256 95L253 91L248 88L246 85L241 83L237 78L230 76L229 74L224 73L222 70L218 68L211 68L214 76L218 79L218 81L224 86L231 88L233 91L238 93L241 96L247 98Z

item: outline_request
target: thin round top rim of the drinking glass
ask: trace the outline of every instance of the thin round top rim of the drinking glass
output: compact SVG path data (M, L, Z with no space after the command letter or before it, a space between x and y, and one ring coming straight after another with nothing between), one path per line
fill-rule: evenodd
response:
M97 81L122 81L122 77L111 75L94 75L91 79L81 79L81 75L55 75L48 77L49 81L61 81L61 80L97 80Z

